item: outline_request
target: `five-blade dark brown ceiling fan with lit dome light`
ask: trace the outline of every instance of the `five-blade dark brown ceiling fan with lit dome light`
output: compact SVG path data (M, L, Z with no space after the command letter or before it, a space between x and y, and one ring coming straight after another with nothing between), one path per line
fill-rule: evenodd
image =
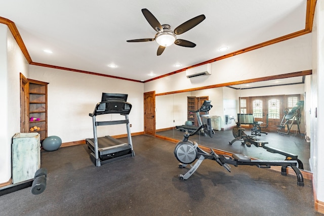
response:
M196 45L193 42L190 42L188 40L184 39L177 39L177 35L182 34L191 28L198 25L200 22L206 19L205 15L199 15L196 16L178 27L174 29L174 31L171 30L170 25L164 24L161 25L157 19L154 17L154 15L147 10L146 8L142 9L142 13L147 20L147 22L153 27L157 33L155 34L154 38L143 38L143 39L134 39L134 40L127 40L127 42L146 42L146 41L153 41L155 40L157 44L159 45L157 49L157 56L161 55L163 51L166 49L166 47L169 47L172 44L181 46L181 47L190 47L193 48Z

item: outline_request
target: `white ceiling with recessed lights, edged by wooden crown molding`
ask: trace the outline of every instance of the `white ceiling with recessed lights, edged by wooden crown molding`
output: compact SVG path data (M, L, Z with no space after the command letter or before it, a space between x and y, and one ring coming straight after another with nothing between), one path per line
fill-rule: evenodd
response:
M34 63L148 80L305 29L307 0L0 0L0 17L17 26ZM204 14L178 35L196 44L176 45L156 56L155 41L141 9L171 29ZM228 50L218 49L226 46ZM51 50L52 54L43 50ZM174 65L180 63L180 67ZM116 68L109 68L115 64ZM149 75L153 73L154 75Z

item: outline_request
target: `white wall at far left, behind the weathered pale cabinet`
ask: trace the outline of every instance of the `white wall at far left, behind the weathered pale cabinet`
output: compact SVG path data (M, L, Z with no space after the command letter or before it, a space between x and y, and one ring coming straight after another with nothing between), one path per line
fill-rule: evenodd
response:
M20 73L29 74L29 64L7 25L0 24L0 184L11 178L12 137L20 132Z

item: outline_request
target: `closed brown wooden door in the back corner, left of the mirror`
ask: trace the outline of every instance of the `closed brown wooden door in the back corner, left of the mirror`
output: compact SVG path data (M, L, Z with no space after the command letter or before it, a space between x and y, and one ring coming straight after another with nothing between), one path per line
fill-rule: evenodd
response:
M155 91L144 93L144 133L155 136Z

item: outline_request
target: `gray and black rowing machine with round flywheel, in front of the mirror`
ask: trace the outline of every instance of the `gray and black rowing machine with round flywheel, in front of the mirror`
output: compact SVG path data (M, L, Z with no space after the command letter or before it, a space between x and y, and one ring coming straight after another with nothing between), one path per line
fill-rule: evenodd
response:
M256 165L259 168L270 168L271 166L281 166L281 175L287 176L287 166L293 168L297 176L297 185L304 186L304 178L301 171L298 169L298 162L296 160L253 160L247 157L244 154L232 154L229 155L221 155L216 154L214 150L211 148L211 152L208 153L203 149L199 148L196 142L190 141L188 138L193 136L199 132L200 129L208 130L206 124L201 125L197 130L189 134L188 132L184 133L184 138L182 141L178 142L175 147L174 155L177 160L180 162L178 164L179 168L184 168L188 164L190 164L190 169L186 172L186 174L179 175L180 180L187 180L190 176L194 174L197 168L200 166L201 162L205 159L215 160L219 165L223 166L227 171L230 172L230 165L234 166L238 165ZM194 164L192 164L195 160Z

